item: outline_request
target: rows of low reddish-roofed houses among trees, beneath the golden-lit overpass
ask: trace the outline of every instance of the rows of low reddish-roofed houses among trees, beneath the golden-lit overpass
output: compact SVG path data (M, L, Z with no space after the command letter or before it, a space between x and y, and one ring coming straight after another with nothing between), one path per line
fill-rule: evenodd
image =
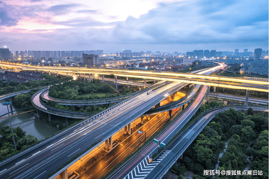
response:
M35 73L30 71L24 72L13 72L7 71L6 73L0 73L0 79L2 81L14 81L18 83L28 82L28 81L40 81L45 78L41 77L42 73Z

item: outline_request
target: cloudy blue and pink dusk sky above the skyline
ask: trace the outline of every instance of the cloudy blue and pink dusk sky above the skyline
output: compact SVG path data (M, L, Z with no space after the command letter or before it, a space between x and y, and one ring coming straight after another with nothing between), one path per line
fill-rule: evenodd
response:
M0 0L0 48L268 50L268 0Z

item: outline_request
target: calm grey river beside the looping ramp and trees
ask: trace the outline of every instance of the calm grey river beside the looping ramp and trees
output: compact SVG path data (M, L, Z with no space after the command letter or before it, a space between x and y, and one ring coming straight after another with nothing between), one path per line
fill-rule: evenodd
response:
M7 113L7 106L2 105L2 103L4 103L4 102L6 102L6 100L0 101L0 103L1 103L0 115ZM11 109L10 109L9 105L8 105L8 108L9 108L9 112L13 111L13 110L20 109L16 106L11 107ZM12 112L12 113L10 113L10 115L17 114L20 112L23 112L23 110ZM36 111L33 111L33 112L36 113ZM0 126L1 127L10 126L8 115L6 115L6 116L7 116L7 118L0 119ZM31 113L19 114L16 116L12 116L10 118L11 118L11 124L12 124L13 128L20 126L23 131L26 131L26 135L32 134L38 140L44 139L47 136L50 136L51 134L59 131L58 128L43 121L42 119L37 118L36 116L34 116Z

